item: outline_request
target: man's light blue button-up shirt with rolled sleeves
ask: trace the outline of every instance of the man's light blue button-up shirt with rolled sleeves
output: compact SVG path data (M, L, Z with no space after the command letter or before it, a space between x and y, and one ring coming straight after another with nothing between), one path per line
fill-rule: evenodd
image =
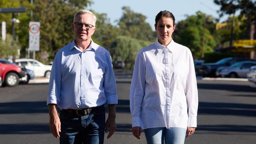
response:
M82 52L75 44L61 48L52 65L47 105L82 109L117 104L115 76L109 52L91 40Z

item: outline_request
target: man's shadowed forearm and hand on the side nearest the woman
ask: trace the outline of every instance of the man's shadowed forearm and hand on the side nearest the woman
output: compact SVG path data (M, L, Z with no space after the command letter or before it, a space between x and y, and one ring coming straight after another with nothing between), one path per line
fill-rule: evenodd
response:
M108 105L108 119L105 127L105 132L109 132L107 138L110 138L115 132L115 117L115 104Z

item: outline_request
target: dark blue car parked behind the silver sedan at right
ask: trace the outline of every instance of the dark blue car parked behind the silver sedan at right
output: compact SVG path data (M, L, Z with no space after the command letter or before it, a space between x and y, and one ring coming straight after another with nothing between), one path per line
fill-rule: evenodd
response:
M239 61L248 61L250 59L238 58L238 57L227 57L217 61L216 63L204 63L199 69L199 75L203 77L216 77L215 72L220 66L230 66Z

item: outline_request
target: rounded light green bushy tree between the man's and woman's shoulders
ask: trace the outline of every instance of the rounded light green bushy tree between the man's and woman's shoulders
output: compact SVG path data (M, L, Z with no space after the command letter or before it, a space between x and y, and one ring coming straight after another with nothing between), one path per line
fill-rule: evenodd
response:
M119 36L111 44L110 54L113 61L122 59L125 61L126 69L133 69L137 52L150 44L152 44L150 41Z

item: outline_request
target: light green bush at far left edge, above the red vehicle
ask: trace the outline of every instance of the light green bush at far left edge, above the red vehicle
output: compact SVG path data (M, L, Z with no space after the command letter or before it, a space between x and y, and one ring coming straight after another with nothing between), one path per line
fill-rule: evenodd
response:
M0 57L1 58L12 58L17 57L18 49L20 49L19 41L13 41L11 35L6 34L6 41L0 39Z

